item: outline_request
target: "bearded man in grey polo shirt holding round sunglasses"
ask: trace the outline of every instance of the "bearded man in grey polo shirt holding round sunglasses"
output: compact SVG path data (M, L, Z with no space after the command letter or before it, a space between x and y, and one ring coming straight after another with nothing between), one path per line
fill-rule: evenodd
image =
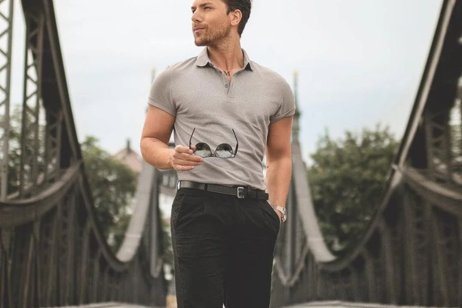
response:
M178 174L170 222L179 308L269 306L295 100L282 76L241 49L250 11L251 0L195 0L193 35L205 48L150 89L141 153Z

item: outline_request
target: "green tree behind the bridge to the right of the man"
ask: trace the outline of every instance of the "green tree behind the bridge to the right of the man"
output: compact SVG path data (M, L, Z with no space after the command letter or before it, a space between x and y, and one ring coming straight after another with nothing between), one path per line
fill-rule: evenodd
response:
M387 181L398 142L389 127L345 131L332 140L327 129L311 155L308 168L320 228L331 251L341 256L370 221Z

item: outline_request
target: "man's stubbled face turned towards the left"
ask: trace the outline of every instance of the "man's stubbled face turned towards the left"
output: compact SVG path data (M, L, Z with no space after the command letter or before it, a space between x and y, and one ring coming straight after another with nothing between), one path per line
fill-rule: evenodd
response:
M192 34L196 46L216 46L230 35L230 19L226 14L226 5L221 0L195 0L191 12Z

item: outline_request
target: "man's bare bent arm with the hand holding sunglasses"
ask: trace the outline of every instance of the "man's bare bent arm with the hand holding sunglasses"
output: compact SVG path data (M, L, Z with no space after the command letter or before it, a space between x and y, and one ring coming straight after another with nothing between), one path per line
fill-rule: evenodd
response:
M141 133L141 156L158 169L191 170L203 159L192 155L188 146L168 147L175 117L164 110L148 104L143 131ZM195 149L195 146L192 146Z

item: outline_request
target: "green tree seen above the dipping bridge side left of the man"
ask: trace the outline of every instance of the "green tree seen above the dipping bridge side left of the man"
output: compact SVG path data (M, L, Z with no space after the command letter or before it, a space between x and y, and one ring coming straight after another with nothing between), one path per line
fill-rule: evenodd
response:
M132 205L138 172L112 158L97 143L97 138L86 136L81 143L82 155L98 220L106 239L112 234L115 253L130 221L127 209Z

